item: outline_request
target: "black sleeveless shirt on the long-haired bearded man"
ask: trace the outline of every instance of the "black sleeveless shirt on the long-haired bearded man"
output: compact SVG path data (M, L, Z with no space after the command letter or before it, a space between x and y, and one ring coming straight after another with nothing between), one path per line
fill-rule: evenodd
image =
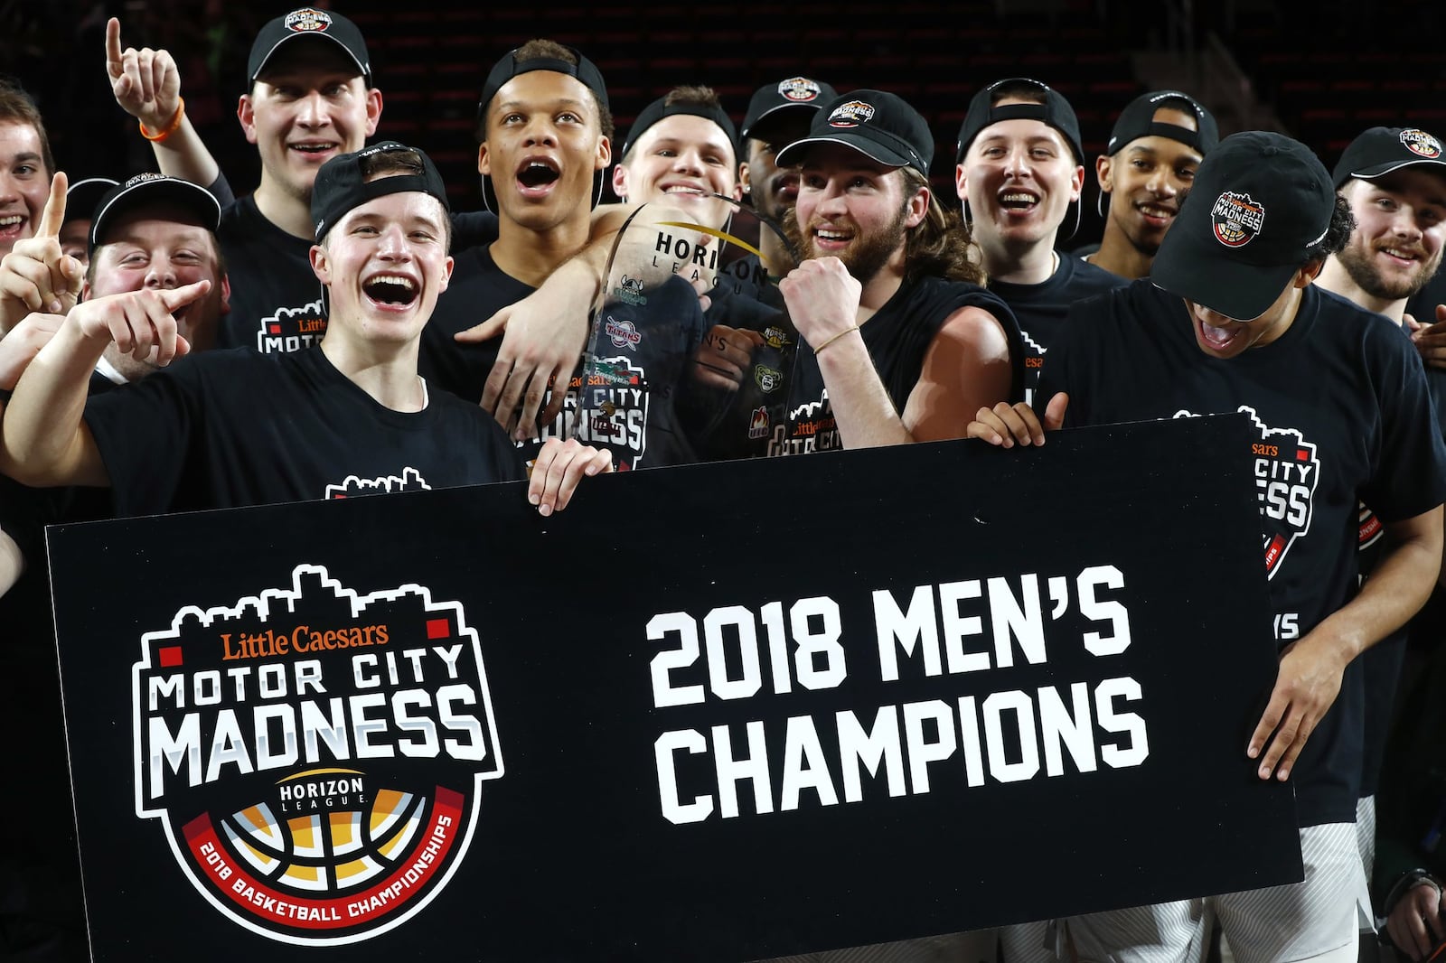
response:
M1024 398L1024 346L1009 307L977 285L923 278L912 285L899 286L894 296L859 328L879 380L897 411L904 411L910 392L924 370L928 346L934 343L944 321L964 307L983 308L1004 325L1009 341L1009 357L1014 361L1014 377L1006 401L1015 402ZM829 389L824 386L823 372L818 370L818 359L811 348L801 346L788 382L784 421L771 425L768 454L791 455L842 447Z

